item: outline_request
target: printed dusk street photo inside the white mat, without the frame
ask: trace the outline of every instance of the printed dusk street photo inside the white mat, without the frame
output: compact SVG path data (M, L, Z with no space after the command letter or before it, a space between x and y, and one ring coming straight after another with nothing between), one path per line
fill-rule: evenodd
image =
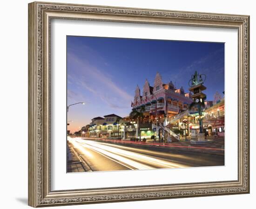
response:
M224 43L67 36L67 172L223 166Z

